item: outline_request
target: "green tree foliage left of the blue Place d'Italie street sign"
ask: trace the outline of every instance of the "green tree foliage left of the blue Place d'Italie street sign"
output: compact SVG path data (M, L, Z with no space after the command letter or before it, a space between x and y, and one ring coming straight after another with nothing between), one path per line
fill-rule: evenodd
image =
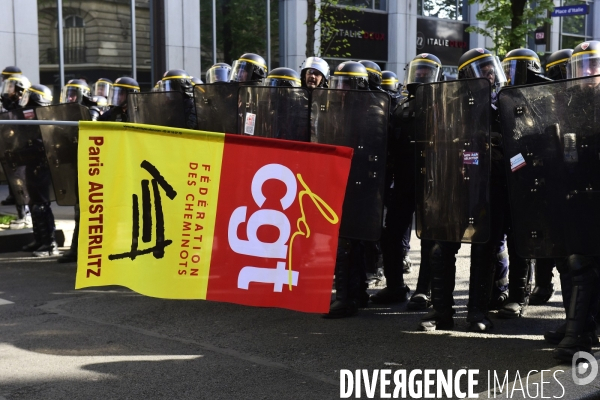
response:
M476 3L481 6L477 20L484 21L487 28L471 26L467 32L491 38L493 50L499 55L524 47L527 35L551 22L548 11L554 9L552 0L469 0L469 4Z

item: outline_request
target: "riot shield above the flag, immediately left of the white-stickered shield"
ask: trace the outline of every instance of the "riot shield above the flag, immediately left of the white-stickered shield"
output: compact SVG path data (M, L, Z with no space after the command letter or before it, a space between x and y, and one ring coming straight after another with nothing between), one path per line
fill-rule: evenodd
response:
M237 133L238 88L236 82L194 86L199 130Z

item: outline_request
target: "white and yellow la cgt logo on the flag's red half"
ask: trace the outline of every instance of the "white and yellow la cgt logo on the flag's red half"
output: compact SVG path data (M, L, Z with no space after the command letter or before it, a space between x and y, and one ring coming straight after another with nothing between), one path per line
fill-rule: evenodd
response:
M281 205L281 211L263 208L267 200L263 193L263 185L271 179L285 185L285 193L276 199ZM298 182L302 185L299 193ZM237 287L248 290L251 282L260 282L273 284L273 292L281 292L285 284L291 291L292 286L297 286L300 275L298 271L292 269L294 239L298 236L310 236L310 228L304 214L303 198L308 196L329 223L337 224L339 218L329 205L308 188L300 174L294 176L288 167L281 164L268 164L256 171L252 178L251 193L259 210L250 217L247 215L247 206L237 207L233 211L227 230L229 246L237 254L273 260L275 267L244 266L238 274ZM301 216L296 222L297 230L292 233L290 220L283 211L294 204L296 196L298 196ZM238 227L241 224L246 224L247 239L238 237ZM258 231L263 226L277 228L278 237L275 241L263 242L259 239Z

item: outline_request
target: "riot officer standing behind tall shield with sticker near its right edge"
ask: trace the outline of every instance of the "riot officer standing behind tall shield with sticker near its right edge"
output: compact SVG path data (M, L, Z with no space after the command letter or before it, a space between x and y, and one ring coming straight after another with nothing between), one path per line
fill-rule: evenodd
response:
M496 108L497 91L506 83L506 77L497 57L482 48L464 53L459 62L458 78L486 78L492 87L492 115ZM497 116L492 118L492 173L490 182L490 238L486 243L471 244L471 268L467 322L469 330L485 332L493 327L488 318L493 271L498 250L504 240L510 220L506 176L504 175L501 135ZM454 327L454 281L456 253L460 243L435 242L431 250L433 310L422 318L420 330L452 329Z

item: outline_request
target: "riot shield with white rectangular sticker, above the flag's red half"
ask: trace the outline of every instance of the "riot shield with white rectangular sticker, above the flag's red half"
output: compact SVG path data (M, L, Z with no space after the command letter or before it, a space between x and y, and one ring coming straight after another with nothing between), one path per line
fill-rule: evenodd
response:
M308 91L303 88L242 86L238 131L275 139L310 141Z

